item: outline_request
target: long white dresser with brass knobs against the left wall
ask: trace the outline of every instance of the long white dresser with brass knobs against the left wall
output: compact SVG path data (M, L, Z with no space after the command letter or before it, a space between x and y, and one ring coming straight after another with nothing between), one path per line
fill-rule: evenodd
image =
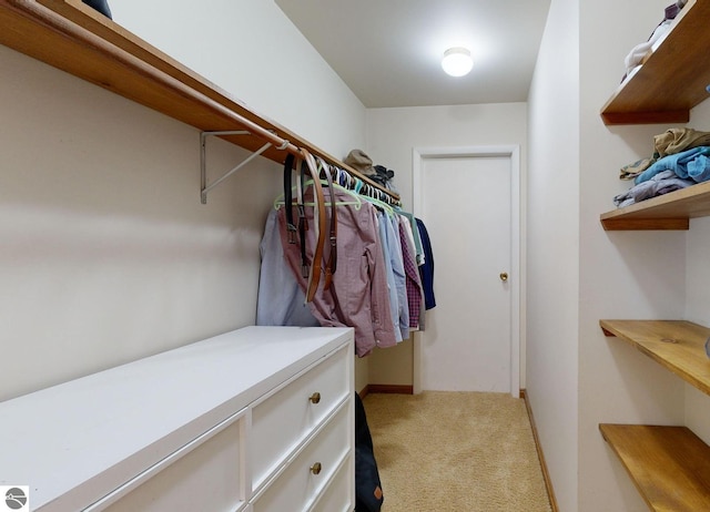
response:
M246 327L0 403L31 510L355 508L353 330Z

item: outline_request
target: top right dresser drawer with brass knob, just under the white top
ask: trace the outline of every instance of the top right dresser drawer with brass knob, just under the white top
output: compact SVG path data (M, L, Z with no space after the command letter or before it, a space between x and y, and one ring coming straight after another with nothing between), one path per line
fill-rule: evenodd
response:
M254 492L352 392L348 350L352 348L344 346L253 407L250 448Z

